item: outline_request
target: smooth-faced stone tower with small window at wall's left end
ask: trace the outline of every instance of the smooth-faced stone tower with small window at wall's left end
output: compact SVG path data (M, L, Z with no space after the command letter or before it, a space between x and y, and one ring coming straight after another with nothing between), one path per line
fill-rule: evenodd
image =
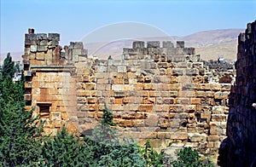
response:
M78 126L76 78L73 75L75 68L69 60L78 57L73 54L75 51L86 50L81 49L81 43L76 43L79 46L61 52L60 34L35 34L33 29L28 32L22 55L26 109L34 108L35 115L41 114L46 120L44 131L47 134L55 134L64 123L68 130L75 131Z

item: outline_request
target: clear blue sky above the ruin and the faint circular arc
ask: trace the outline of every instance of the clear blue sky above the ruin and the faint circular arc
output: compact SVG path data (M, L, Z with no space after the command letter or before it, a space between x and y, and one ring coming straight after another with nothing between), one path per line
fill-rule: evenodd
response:
M255 0L84 1L0 0L1 53L23 51L24 33L61 33L61 44L79 41L99 27L135 21L185 36L214 29L246 28L256 20Z

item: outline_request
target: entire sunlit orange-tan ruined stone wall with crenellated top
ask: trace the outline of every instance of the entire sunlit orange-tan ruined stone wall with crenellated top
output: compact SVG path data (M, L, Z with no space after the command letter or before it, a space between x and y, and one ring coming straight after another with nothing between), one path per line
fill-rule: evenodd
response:
M157 150L195 147L218 154L233 66L207 64L183 41L176 47L171 41L137 41L123 50L122 60L90 59L83 43L62 48L59 41L57 33L30 29L25 35L26 108L35 107L46 120L45 133L67 124L78 135L90 135L106 102L120 134L137 142L151 138ZM228 71L218 71L222 67Z

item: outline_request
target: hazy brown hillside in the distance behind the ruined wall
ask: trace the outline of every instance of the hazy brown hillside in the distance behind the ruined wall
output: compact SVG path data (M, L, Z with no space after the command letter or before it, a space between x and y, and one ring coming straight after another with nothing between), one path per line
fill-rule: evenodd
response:
M176 43L178 40L185 41L185 47L194 47L196 54L201 55L203 60L216 60L218 55L224 55L225 59L236 60L237 37L243 29L225 29L212 30L205 32L196 32L184 37L141 37L137 39L120 39L111 43L86 43L84 48L89 49L89 55L95 55L100 59L108 59L108 55L112 55L113 59L121 59L123 48L131 48L132 42L135 40L142 41L166 41L170 40ZM22 44L22 43L20 43ZM21 60L22 51L11 52L13 60ZM7 53L1 53L1 60Z

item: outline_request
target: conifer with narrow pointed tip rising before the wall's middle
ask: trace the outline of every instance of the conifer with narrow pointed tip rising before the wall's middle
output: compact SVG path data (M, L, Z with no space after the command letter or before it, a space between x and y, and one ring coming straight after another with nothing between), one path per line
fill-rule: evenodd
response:
M113 113L105 104L101 124L97 125L93 135L84 136L84 164L89 166L145 166L145 160L139 153L134 141L119 141Z

